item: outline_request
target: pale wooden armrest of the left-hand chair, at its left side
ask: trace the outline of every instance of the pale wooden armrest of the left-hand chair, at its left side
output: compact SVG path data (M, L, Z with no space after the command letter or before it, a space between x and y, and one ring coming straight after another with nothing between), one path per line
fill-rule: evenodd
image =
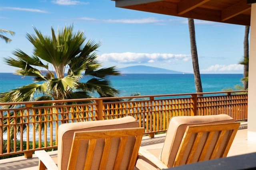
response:
M45 150L36 150L35 154L39 158L38 170L43 169L40 167L41 162L44 164L44 166L48 170L58 170L57 165L55 164L55 162L52 160L51 156Z

